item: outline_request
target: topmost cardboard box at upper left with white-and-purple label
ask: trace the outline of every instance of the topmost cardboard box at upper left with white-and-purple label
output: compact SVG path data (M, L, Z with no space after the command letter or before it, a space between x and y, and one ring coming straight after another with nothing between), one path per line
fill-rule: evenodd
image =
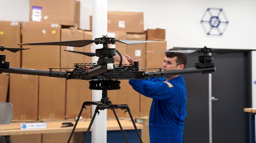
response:
M76 0L30 0L30 21L75 24Z

